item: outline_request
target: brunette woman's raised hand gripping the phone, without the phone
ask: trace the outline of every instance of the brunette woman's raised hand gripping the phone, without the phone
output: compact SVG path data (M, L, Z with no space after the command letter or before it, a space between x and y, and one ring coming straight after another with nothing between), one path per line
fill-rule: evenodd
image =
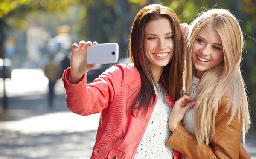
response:
M87 64L87 47L90 45L96 45L97 42L80 41L79 45L74 43L72 45L72 52L70 58L70 83L77 84L84 73L93 69L97 64Z

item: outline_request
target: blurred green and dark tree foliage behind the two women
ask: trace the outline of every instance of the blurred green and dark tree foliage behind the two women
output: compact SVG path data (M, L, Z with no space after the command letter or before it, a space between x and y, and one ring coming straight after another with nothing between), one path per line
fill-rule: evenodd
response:
M39 60L49 53L49 38L63 32L70 35L70 43L80 40L119 43L119 56L124 58L135 15L152 3L170 6L182 23L191 23L196 14L214 6L229 9L236 15L246 40L242 71L251 117L256 121L256 42L253 39L256 38L256 0L1 0L0 58L11 58L14 68L22 67L26 61L38 60L27 53L28 31L35 25L45 32L40 36L44 40L40 43ZM69 27L61 31L58 27L61 25ZM8 45L15 46L14 53L6 53Z

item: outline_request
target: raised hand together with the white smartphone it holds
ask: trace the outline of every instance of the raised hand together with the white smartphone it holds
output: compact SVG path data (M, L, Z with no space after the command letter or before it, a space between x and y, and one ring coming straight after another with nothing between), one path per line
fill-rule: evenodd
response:
M70 83L78 83L84 73L97 64L116 63L119 47L117 43L98 44L97 42L80 41L72 45L70 58Z

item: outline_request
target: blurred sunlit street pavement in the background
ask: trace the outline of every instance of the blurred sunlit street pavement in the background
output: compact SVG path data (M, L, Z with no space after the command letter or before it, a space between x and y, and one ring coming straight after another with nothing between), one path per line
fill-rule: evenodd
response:
M0 159L90 158L99 114L71 113L61 80L55 85L57 95L50 110L47 82L40 69L17 69L12 80L6 80L9 110L0 121ZM252 159L256 159L255 141L255 136L247 137Z

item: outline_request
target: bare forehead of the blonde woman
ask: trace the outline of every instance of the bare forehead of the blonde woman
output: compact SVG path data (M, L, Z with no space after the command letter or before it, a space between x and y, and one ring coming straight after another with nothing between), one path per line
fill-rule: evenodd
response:
M213 26L205 26L198 32L198 36L201 36L210 43L221 44L221 37Z

